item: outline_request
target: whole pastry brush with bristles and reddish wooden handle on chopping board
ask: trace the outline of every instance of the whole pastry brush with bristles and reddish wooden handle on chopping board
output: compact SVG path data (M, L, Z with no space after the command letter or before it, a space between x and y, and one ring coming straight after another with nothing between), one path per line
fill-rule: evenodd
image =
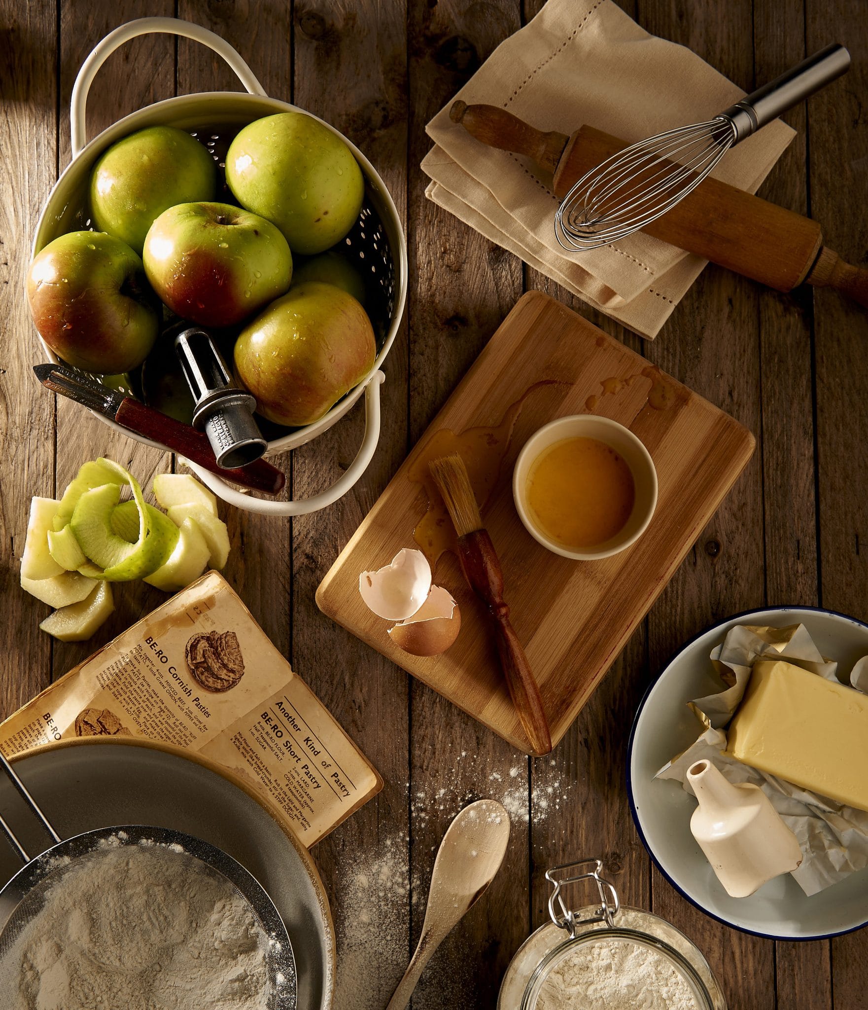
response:
M551 734L528 658L510 622L510 608L504 599L504 573L495 544L482 526L467 468L460 456L432 460L428 464L434 483L458 534L458 560L467 585L485 604L495 630L501 668L510 696L533 752L551 750Z

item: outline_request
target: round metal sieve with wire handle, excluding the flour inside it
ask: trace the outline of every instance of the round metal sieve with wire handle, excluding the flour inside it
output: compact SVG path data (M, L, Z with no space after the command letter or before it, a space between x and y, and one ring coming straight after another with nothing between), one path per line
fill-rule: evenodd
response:
M266 967L272 995L267 1010L296 1010L297 977L293 946L280 912L259 882L231 855L215 845L169 828L144 824L124 824L96 828L62 839L45 817L23 782L0 753L0 766L21 795L33 815L55 842L39 855L31 858L12 828L0 815L0 830L24 861L24 866L0 889L0 992L14 992L20 966L7 957L23 929L44 906L49 888L61 883L64 874L82 861L105 851L130 845L161 846L173 854L195 861L197 869L228 881L244 898L259 926L268 938ZM179 851L183 849L183 853Z

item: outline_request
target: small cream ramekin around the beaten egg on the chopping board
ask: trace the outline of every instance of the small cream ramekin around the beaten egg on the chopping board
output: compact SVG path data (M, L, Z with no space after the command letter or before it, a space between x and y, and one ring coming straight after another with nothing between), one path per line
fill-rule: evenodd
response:
M570 550L556 540L550 539L534 523L527 502L528 476L534 463L549 445L566 438L578 437L596 438L611 445L621 456L633 474L635 500L630 518L615 536L593 547ZM525 442L513 471L513 498L525 529L544 547L562 558L572 558L577 562L598 561L601 558L611 558L612 554L626 549L647 529L657 505L657 471L648 449L629 428L608 417L573 414L550 421L535 431Z

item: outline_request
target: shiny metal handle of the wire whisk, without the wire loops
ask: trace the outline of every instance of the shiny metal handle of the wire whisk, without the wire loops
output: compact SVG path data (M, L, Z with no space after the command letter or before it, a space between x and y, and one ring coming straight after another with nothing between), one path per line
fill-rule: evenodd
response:
M850 54L834 43L793 67L780 77L736 102L722 114L735 127L738 143L770 123L805 98L826 87L850 68Z

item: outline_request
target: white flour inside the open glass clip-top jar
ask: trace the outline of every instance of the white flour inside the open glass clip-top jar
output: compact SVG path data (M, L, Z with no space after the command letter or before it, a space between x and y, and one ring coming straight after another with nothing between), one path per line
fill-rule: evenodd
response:
M656 950L619 940L573 948L549 974L535 1010L697 1010L687 982Z

